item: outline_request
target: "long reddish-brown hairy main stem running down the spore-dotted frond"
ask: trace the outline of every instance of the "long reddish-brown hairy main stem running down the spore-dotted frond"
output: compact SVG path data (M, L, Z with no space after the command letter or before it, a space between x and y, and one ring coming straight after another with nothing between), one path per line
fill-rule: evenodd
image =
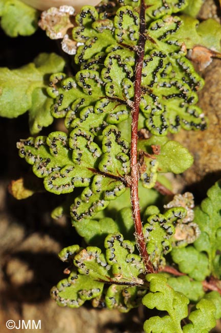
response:
M130 166L131 166L131 185L130 185L130 201L132 206L132 218L135 224L136 242L140 252L140 255L145 264L147 273L154 273L153 266L149 260L149 256L146 249L146 243L143 235L143 226L140 216L140 205L138 195L138 182L139 182L139 168L138 168L138 118L140 110L140 98L141 98L141 75L144 58L144 46L145 46L145 5L144 0L141 0L140 9L140 37L137 47L137 59L135 68L135 98L134 106L131 110L131 152L130 152Z

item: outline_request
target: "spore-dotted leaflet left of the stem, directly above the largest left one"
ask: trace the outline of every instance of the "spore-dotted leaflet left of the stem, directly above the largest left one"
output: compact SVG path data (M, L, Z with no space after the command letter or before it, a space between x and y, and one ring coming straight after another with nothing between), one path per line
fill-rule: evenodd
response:
M63 78L64 75L53 75L50 78L52 88L47 91L51 97L57 96L52 115L56 118L66 115L67 128L83 127L94 135L100 135L107 124L127 119L128 107L105 97L104 82L99 72L82 70L75 79Z

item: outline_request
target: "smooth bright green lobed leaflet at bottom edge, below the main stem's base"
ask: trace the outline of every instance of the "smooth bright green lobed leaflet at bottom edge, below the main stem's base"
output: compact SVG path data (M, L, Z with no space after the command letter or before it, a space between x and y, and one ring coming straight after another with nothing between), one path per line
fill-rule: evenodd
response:
M167 284L167 279L160 274L149 274L146 277L150 282L150 293L144 296L142 302L152 309L167 311L168 315L151 317L144 323L145 333L208 333L216 325L216 307L219 307L220 296L215 294L206 296L196 304L196 309L188 316L188 298L180 292L175 292ZM209 293L211 294L211 293ZM209 295L208 294L208 295ZM182 319L192 322L181 328Z

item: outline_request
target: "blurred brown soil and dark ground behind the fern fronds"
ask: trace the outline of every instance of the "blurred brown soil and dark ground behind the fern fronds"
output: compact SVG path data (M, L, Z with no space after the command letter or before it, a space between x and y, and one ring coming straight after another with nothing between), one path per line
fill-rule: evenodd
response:
M211 5L212 4L212 5ZM219 12L216 2L206 1L202 17ZM210 6L211 5L211 6ZM212 9L212 14L211 14ZM54 51L57 46L38 31L29 37L8 38L0 32L5 45L0 65L10 68L30 62L41 51ZM41 43L39 44L39 40ZM29 45L29 52L23 50ZM36 47L37 45L37 47ZM174 179L174 188L190 190L200 202L207 190L221 178L221 63L213 60L204 70L205 87L199 105L209 119L204 132L181 132L175 139L182 142L194 156L193 166ZM53 125L53 126L56 126ZM53 130L53 127L47 131ZM16 141L29 136L27 115L18 119L0 119L0 331L8 333L7 320L41 320L42 333L141 333L145 309L141 306L129 314L94 309L86 304L79 309L61 308L50 299L50 289L64 278L65 264L57 258L64 246L76 241L77 235L68 220L52 220L50 212L61 198L49 193L36 194L17 201L8 192L12 179L30 173L27 163L17 154ZM44 133L42 133L44 134ZM182 186L179 184L182 183ZM214 332L221 332L218 326ZM12 332L33 332L33 329L14 329Z

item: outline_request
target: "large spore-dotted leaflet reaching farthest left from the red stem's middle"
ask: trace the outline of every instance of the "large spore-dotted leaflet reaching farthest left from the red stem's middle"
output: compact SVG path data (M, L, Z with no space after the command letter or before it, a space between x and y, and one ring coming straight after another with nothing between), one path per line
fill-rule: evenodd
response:
M113 125L103 131L102 149L93 134L80 128L70 136L53 132L21 140L17 148L20 157L33 165L35 175L44 178L47 191L63 194L85 188L71 206L75 221L94 216L126 189L121 176L129 172L129 147Z

